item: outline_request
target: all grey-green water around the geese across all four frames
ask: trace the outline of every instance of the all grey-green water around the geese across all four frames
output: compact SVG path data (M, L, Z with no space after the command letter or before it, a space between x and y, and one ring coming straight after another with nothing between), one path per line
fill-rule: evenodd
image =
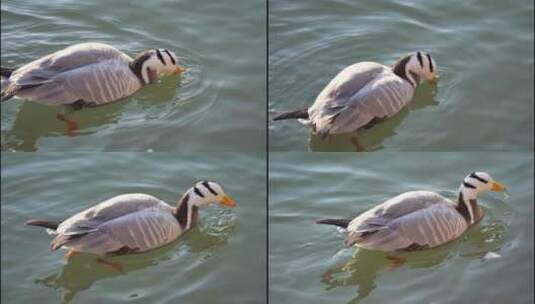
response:
M2 0L2 66L98 41L131 56L167 48L187 68L70 113L72 135L56 118L63 107L2 103L2 304L266 303L268 279L274 304L532 303L533 1L266 4ZM392 64L414 50L432 54L440 80L358 133L373 153L309 153L354 151L354 134L324 141L296 121L266 130L267 118L311 105L347 65ZM490 172L510 197L482 195L480 223L445 246L404 254L399 267L314 223L410 190L454 198L474 170ZM45 231L24 225L127 192L174 203L199 179L220 182L237 208L204 209L172 244L114 257L123 272L88 254L66 262Z

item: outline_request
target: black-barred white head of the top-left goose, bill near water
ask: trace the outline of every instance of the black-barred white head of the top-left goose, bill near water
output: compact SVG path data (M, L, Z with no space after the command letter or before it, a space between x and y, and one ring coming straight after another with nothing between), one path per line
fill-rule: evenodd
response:
M142 52L130 63L130 68L143 84L152 83L161 76L176 75L184 71L184 68L178 65L176 55L166 49Z

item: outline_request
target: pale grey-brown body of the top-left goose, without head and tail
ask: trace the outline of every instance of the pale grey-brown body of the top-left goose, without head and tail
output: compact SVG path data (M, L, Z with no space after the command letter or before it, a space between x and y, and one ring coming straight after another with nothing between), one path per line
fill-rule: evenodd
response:
M128 66L131 60L105 44L78 44L19 68L6 90L45 104L102 104L141 87Z

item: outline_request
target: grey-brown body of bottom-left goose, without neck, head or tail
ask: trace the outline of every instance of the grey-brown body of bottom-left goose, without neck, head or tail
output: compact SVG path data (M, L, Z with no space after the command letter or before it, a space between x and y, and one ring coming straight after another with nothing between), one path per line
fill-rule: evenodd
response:
M147 194L119 195L62 222L51 246L98 255L161 247L184 232L173 209Z

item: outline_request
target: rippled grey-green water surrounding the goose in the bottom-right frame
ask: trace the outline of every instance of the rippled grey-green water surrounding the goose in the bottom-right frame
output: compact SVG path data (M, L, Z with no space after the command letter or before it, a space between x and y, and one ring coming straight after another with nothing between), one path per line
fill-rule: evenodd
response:
M269 168L271 303L533 302L531 153L274 153ZM511 196L481 195L482 222L446 246L404 254L400 267L384 253L345 248L343 233L314 223L410 190L454 198L473 170Z

